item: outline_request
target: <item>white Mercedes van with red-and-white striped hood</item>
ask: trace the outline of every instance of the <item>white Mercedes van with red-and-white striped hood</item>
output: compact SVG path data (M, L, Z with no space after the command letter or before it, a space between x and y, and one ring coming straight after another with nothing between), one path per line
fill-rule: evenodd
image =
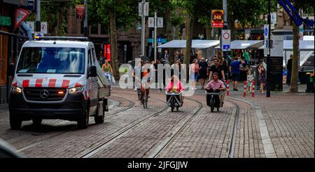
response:
M97 62L94 44L85 37L41 37L22 46L10 88L10 127L42 119L104 122L111 94ZM104 108L103 108L104 107Z

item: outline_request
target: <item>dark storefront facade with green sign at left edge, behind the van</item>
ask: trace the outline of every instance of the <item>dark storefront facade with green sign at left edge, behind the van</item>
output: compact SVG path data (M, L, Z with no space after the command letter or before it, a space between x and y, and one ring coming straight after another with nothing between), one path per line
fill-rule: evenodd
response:
M14 28L15 9L26 8L27 0L0 0L0 110L7 108L10 91L9 66L14 64L22 43L27 39Z

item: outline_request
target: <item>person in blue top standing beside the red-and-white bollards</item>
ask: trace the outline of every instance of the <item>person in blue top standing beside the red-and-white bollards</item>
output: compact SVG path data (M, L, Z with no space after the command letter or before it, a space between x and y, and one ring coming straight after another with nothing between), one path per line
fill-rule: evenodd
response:
M241 60L241 58L237 57L230 64L230 74L232 74L233 91L239 91L237 89L237 84L239 83L239 77L241 75L240 65L244 63L244 60Z

